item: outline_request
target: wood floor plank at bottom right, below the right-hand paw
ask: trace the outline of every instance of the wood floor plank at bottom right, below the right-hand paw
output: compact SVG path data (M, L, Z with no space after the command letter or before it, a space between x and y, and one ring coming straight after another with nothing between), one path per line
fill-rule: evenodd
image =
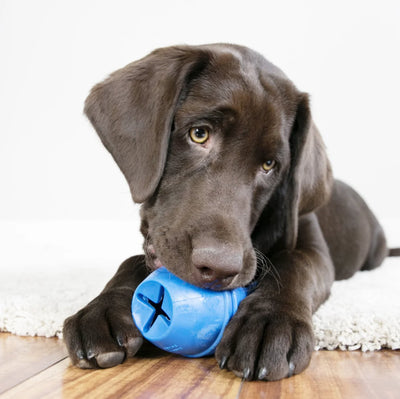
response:
M239 397L395 399L399 376L399 351L319 351L302 374L269 383L245 382Z

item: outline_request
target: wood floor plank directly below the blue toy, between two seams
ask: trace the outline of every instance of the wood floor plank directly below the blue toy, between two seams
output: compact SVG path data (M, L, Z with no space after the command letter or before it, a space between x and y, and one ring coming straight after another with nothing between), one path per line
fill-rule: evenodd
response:
M80 370L64 360L2 395L10 398L236 398L241 380L215 359L138 357L106 370Z

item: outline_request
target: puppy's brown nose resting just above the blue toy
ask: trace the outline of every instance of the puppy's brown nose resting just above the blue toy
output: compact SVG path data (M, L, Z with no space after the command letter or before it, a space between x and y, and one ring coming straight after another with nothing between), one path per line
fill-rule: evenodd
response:
M228 245L195 247L192 263L199 285L223 288L241 271L243 251Z

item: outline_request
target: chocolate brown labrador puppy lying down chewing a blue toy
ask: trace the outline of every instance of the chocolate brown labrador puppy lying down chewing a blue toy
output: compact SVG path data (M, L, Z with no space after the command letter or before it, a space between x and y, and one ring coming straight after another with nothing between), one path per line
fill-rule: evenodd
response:
M131 298L165 265L212 290L257 281L217 347L221 368L260 380L304 370L334 279L390 253L365 202L333 180L307 94L246 47L176 46L96 85L85 112L143 204L145 255L65 321L72 362L135 355Z

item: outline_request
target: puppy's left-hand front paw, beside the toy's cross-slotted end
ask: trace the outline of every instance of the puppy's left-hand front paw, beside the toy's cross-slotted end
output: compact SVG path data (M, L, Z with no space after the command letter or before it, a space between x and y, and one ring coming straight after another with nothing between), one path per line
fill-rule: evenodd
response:
M63 338L72 363L80 368L107 368L134 356L143 338L133 323L131 295L99 295L64 322Z

